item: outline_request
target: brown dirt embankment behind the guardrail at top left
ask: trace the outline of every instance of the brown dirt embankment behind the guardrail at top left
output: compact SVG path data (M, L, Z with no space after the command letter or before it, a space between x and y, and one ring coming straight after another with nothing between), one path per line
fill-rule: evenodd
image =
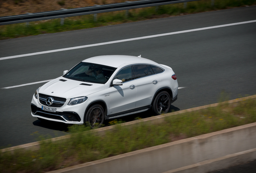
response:
M126 0L0 0L0 16L112 4ZM134 1L134 0L131 0Z

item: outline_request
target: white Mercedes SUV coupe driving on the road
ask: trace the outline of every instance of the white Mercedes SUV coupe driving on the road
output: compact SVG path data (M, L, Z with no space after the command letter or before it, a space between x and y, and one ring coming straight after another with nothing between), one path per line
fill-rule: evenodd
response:
M31 115L67 124L88 122L94 128L105 119L149 109L167 113L177 96L177 77L169 66L140 56L96 56L39 87Z

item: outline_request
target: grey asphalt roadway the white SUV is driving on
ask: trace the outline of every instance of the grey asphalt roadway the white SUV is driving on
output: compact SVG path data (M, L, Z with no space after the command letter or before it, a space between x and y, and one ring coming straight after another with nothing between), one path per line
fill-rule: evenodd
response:
M222 91L229 95L229 99L255 95L256 22L191 31L250 20L256 20L256 6L0 40L0 147L35 142L39 135L56 137L68 134L66 125L45 125L31 116L31 99L44 83L11 89L4 87L56 78L62 75L63 70L92 56L142 55L171 66L179 86L185 87L179 90L178 100L173 103L176 111L217 103ZM184 30L190 31L69 49ZM3 57L61 48L66 50L1 60Z

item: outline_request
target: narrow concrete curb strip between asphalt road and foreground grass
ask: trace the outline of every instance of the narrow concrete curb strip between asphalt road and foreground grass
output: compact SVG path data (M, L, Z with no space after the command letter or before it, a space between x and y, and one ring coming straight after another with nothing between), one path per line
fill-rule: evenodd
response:
M139 119L139 120L136 120L136 121L130 121L130 122L122 123L121 126L135 125L135 124L141 123L141 122L160 123L161 121L164 120L164 117L169 117L169 116L172 116L172 115L178 115L178 114L191 112L191 111L197 111L197 110L206 109L206 108L209 108L209 107L217 107L219 104L236 103L236 102L244 101L244 100L247 100L247 99L254 99L254 98L256 98L256 95L243 97L243 98L239 98L239 99L234 99L234 100L230 100L230 101L225 101L225 102L222 102L222 103L214 103L214 104L211 104L211 105L205 105L205 106L201 106L201 107L186 109L186 110L177 111L177 112L173 112L173 113L167 113L167 114L164 114L164 115L158 115L158 116L149 117L149 118L145 118L145 119ZM105 131L114 129L115 126L116 125L112 125L112 126L108 126L108 127L102 127L102 128L99 128L99 129L93 129L92 131L95 131L99 134L104 134ZM70 135L65 135L65 136L62 136L62 137L56 137L56 138L47 139L47 140L59 141L59 140L67 139L69 137L70 137ZM35 150L38 150L39 147L40 147L40 142L33 142L33 143L28 143L28 144L23 144L23 145L18 145L18 146L14 146L14 147L1 149L1 152L14 151L15 149L26 149L26 150L35 151Z

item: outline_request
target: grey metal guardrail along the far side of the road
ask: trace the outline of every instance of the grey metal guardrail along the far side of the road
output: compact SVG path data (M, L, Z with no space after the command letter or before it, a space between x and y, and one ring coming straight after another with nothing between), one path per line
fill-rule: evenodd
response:
M71 8L48 12L27 13L14 16L2 16L0 17L0 25L33 22L38 20L49 20L54 18L66 18L72 16L82 16L87 14L98 14L120 10L130 10L134 8L145 8L167 4L186 3L191 1L198 0L139 0L134 2L126 1L116 4L95 5L83 8Z

